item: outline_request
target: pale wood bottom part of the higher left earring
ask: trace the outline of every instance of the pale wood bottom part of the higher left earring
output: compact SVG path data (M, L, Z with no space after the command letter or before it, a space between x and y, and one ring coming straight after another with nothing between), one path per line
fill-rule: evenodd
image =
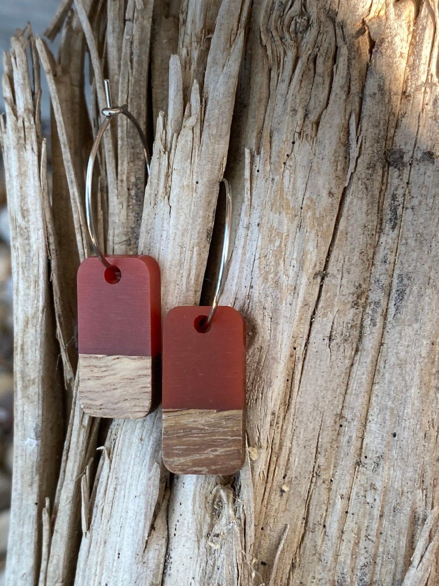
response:
M150 356L80 354L81 407L94 417L140 419L152 403Z

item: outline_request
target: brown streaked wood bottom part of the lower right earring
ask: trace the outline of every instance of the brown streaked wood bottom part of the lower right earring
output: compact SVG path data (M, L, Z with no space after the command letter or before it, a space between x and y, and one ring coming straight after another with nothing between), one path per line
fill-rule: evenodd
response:
M175 474L233 474L245 456L245 412L164 409L162 452Z

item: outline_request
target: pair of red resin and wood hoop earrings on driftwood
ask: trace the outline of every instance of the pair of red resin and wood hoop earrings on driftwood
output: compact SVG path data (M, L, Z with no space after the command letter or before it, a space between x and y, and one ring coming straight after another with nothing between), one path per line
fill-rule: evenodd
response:
M224 246L212 306L175 307L163 323L160 269L148 255L104 255L91 205L92 173L111 118L123 114L145 135L126 105L107 108L91 149L85 207L96 254L80 265L78 287L79 396L95 417L145 417L163 398L162 452L174 473L229 475L243 463L245 445L245 323L218 306L227 261L231 195L227 181Z

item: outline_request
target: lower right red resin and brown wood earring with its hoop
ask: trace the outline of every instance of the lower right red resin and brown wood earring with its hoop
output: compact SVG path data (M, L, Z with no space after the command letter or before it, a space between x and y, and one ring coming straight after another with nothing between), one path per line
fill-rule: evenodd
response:
M176 474L230 475L245 446L245 322L218 306L230 239L227 180L221 266L209 307L174 307L163 325L163 462Z

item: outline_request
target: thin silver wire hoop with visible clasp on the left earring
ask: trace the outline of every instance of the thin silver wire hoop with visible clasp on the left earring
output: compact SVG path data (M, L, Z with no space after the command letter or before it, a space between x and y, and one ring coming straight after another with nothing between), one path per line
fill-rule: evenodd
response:
M105 118L102 124L99 127L98 134L94 139L93 146L91 147L90 156L88 157L88 165L87 165L87 176L85 178L85 216L87 217L87 228L88 228L88 235L90 236L91 247L93 248L94 252L96 253L97 257L100 259L101 263L104 267L111 268L113 265L110 264L105 258L104 253L102 252L96 235L96 230L94 227L94 219L93 219L93 212L92 212L92 205L91 205L91 185L92 185L92 178L93 178L93 169L94 169L94 162L96 159L96 155L98 152L98 148L104 135L104 132L107 130L109 123L111 122L111 118L117 116L118 114L124 114L131 122L135 125L140 139L142 139L143 144L143 154L145 155L146 161L146 172L149 178L149 170L150 170L150 156L148 145L146 144L145 134L143 134L142 128L140 128L139 122L136 118L128 111L128 106L126 104L122 106L113 107L112 100L111 100L111 87L109 84L109 80L106 79L104 81L105 84L105 98L107 100L107 108L102 108L102 114L104 114Z

